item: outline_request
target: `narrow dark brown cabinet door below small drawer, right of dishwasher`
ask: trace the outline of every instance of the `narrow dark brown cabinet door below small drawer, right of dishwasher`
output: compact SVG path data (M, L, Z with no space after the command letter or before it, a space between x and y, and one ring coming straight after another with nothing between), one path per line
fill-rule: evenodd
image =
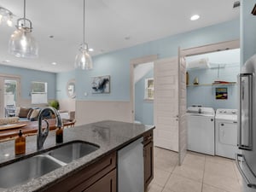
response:
M144 146L144 181L145 189L154 177L154 148L153 142Z

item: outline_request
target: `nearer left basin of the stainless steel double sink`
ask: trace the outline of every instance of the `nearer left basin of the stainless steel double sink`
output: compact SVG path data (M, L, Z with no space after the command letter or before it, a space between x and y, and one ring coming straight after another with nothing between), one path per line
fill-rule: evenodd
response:
M10 188L41 177L61 165L47 155L37 155L0 168L0 188Z

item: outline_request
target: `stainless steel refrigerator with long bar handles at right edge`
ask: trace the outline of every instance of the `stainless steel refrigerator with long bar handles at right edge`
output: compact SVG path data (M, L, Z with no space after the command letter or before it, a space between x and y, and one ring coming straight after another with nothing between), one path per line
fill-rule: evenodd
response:
M256 55L241 68L238 82L241 154L236 154L236 165L243 178L243 192L256 192Z

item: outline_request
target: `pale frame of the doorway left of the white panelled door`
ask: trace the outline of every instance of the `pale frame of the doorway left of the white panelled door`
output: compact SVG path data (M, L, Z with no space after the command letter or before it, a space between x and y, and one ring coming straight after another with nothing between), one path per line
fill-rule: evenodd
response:
M158 59L158 55L148 55L139 57L136 59L132 59L130 61L130 108L131 108L131 123L134 122L135 118L135 104L134 104L134 67L136 67L139 64L147 63L147 62L154 62Z

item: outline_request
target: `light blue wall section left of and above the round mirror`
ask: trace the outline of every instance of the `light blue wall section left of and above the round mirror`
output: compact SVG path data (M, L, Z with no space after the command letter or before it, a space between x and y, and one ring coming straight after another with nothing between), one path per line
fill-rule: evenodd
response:
M75 79L75 70L56 74L56 99L68 98L66 87L69 79Z

